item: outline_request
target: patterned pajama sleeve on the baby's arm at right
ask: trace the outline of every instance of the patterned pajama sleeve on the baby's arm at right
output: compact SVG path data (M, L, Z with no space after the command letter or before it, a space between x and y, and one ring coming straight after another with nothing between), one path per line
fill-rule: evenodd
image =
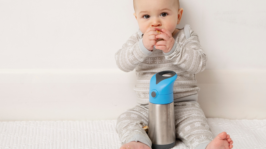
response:
M165 59L177 65L184 71L192 74L202 72L206 67L207 55L202 50L198 35L188 25L184 28L185 41L176 41L174 49L168 53L164 53ZM177 37L178 38L178 37Z

